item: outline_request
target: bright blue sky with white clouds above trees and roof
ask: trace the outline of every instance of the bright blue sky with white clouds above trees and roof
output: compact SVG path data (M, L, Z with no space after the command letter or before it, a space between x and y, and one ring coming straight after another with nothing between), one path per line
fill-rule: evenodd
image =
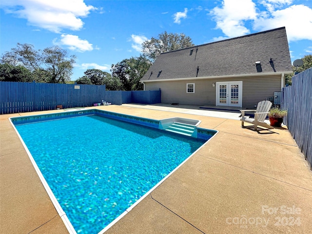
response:
M0 52L59 45L77 56L76 80L139 56L141 43L164 31L200 45L282 26L292 61L312 54L312 0L1 0Z

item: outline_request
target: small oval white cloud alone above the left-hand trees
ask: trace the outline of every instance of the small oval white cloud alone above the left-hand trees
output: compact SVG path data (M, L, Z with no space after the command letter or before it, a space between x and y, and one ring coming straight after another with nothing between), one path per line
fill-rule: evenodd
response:
M70 50L84 52L84 51L92 51L93 46L87 40L79 39L78 36L70 35L70 34L62 34L60 39L54 39L53 44L55 45L65 45ZM96 48L98 49L98 47Z

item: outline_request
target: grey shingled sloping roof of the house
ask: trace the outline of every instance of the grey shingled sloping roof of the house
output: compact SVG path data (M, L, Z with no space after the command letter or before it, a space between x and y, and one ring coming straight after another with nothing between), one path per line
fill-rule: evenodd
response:
M292 72L285 27L161 53L141 81L274 72Z

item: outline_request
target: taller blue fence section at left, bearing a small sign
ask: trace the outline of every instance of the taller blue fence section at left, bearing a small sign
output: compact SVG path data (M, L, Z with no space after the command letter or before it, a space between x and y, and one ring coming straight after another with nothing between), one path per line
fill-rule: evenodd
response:
M104 95L105 85L0 82L1 114L91 106Z

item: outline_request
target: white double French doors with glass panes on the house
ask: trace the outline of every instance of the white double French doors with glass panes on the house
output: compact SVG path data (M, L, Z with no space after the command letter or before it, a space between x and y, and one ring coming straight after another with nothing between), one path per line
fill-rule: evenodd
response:
M216 82L216 106L242 107L243 81Z

